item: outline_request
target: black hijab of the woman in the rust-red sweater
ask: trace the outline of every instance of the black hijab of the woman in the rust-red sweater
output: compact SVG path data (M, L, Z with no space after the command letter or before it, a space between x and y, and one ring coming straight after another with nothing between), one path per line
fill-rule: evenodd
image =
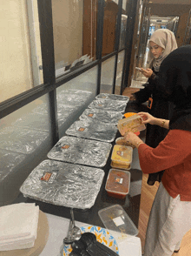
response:
M191 131L191 45L172 51L161 63L157 89L175 104L169 129Z

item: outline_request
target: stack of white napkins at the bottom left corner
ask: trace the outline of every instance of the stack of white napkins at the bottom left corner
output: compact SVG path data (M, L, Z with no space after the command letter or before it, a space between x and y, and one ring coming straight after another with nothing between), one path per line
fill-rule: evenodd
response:
M35 244L39 206L14 204L0 207L0 251L31 248Z

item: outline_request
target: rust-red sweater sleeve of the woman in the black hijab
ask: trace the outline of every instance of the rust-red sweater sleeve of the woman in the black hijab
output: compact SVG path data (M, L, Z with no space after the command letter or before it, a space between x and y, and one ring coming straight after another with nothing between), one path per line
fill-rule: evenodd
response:
M172 130L156 147L139 146L139 160L144 173L154 173L180 165L191 157L191 132Z

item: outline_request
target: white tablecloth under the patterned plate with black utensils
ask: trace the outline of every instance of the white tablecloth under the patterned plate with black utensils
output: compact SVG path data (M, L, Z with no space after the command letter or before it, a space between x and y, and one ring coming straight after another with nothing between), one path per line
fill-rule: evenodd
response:
M49 221L49 239L40 256L63 256L63 239L69 228L69 219L46 213ZM76 221L76 226L88 224ZM117 241L117 239L116 239ZM120 256L142 256L141 239L131 237L124 241L117 241Z

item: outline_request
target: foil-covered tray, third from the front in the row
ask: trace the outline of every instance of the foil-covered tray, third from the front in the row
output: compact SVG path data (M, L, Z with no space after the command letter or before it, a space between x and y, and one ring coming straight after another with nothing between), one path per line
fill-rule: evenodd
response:
M67 135L91 138L105 142L112 142L115 140L116 132L118 131L115 125L104 125L99 122L84 120L76 121L66 131Z

